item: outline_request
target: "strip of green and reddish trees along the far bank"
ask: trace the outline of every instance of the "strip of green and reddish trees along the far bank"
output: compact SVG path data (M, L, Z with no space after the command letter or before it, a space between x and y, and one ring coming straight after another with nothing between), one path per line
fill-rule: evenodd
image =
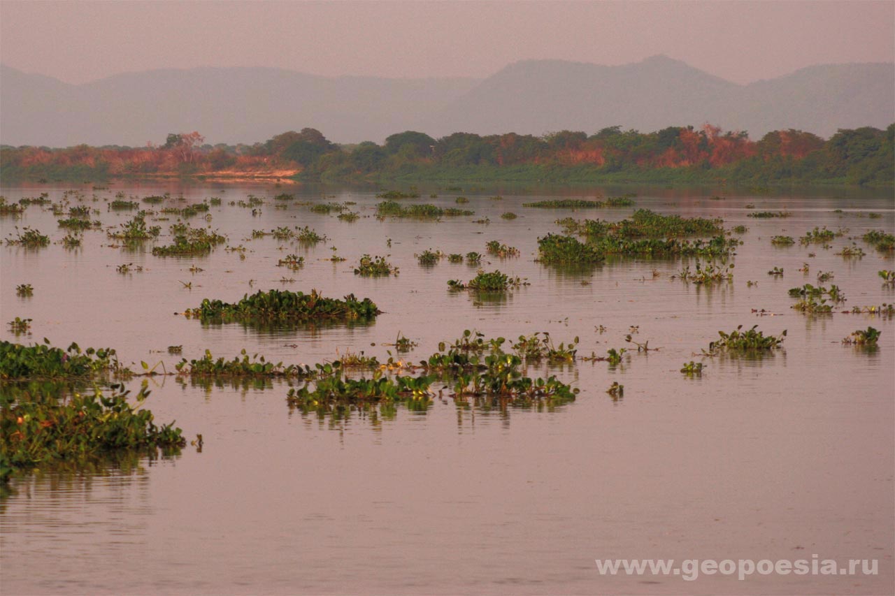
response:
M209 145L199 132L172 133L142 148L0 147L4 179L117 176L294 176L324 182L477 181L544 183L842 183L891 185L895 124L811 132L774 131L761 140L710 124L657 132L618 126L542 136L455 132L434 139L399 132L381 145L337 145L312 128L253 145Z

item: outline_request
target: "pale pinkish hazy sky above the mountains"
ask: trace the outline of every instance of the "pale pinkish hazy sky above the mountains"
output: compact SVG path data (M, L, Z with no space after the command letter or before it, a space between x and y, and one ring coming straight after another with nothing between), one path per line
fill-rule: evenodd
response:
M529 58L666 54L736 82L895 60L895 1L37 2L0 0L0 60L80 83L118 72L274 66L485 77Z

